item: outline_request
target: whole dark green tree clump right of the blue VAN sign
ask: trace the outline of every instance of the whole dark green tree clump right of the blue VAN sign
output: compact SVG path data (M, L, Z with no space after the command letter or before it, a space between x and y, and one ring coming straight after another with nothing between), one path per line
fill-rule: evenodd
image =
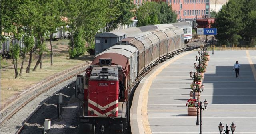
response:
M256 0L229 0L216 15L214 28L218 28L216 39L232 47L240 40L255 45Z

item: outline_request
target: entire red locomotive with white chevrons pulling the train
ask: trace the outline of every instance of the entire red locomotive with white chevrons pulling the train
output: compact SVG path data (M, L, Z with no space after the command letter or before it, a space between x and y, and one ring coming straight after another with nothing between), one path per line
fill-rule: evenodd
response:
M111 59L100 59L100 65L91 65L86 75L78 75L78 120L81 134L126 134L126 102L119 102L119 71ZM82 85L82 86L81 86ZM83 89L83 90L80 90ZM82 97L82 98L81 98ZM79 94L78 94L79 98Z

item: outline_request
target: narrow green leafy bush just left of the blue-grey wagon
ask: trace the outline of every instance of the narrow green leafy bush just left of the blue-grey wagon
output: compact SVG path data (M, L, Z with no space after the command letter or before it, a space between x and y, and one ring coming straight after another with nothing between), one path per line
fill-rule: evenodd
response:
M69 43L69 57L70 59L74 59L75 57L79 57L80 55L84 55L85 53L85 40L84 40L84 31L82 28L79 28L78 31L74 33L74 47L72 48L72 44Z

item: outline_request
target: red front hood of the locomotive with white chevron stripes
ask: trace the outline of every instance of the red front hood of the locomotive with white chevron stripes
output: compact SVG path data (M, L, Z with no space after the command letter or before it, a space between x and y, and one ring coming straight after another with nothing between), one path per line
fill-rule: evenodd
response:
M118 67L93 67L88 82L88 115L118 116Z

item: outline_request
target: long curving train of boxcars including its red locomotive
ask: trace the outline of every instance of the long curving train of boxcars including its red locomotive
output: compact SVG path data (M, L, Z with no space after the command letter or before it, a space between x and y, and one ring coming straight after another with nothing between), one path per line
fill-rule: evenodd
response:
M177 26L156 24L133 29L138 32L133 31L128 37L113 35L124 35L127 30L101 34L103 42L107 39L102 44L106 46L101 46L106 50L98 49L102 51L83 75L77 75L80 134L128 133L130 97L136 83L152 67L184 51L184 28L182 23ZM99 37L96 35L97 39ZM106 44L111 38L112 46Z

